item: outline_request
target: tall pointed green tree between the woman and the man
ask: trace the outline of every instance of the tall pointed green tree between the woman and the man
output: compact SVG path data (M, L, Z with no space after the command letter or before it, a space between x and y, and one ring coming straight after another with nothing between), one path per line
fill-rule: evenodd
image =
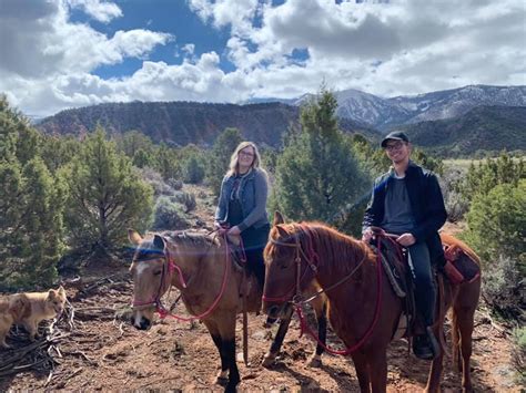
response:
M292 219L333 224L368 189L350 141L337 128L336 106L334 95L322 90L317 101L302 107L302 130L277 158L274 198Z

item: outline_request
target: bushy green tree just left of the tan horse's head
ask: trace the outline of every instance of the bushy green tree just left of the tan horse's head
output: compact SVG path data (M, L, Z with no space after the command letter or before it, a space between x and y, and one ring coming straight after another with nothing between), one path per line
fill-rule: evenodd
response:
M70 186L67 223L74 249L108 255L125 241L127 228L148 227L153 192L102 128L87 138L62 176Z

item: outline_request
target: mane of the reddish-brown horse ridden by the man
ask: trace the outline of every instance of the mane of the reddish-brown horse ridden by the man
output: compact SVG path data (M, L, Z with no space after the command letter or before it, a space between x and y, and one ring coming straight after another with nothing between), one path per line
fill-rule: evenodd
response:
M370 262L375 262L373 250L363 241L358 241L352 236L344 235L335 228L318 221L302 221L292 223L281 226L291 236L295 232L301 234L300 242L304 250L308 250L308 239L316 245L318 254L318 263L324 263L327 272L342 273L342 268L351 270L363 258ZM337 263L330 263L328 261L341 261ZM354 261L354 263L352 263ZM337 272L335 271L337 269ZM360 277L362 269L356 272Z

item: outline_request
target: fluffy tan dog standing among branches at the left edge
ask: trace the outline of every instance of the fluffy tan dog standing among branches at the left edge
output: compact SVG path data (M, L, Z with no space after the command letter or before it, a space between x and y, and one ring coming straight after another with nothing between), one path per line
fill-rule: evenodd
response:
M0 344L7 347L6 335L13 323L21 324L34 341L39 323L58 318L64 310L65 290L50 289L47 292L17 293L0 301Z

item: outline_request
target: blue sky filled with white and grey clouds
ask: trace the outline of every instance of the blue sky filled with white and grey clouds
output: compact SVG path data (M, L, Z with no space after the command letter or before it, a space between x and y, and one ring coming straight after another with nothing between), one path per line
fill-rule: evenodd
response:
M526 84L524 0L0 0L0 93L105 102L384 97Z

